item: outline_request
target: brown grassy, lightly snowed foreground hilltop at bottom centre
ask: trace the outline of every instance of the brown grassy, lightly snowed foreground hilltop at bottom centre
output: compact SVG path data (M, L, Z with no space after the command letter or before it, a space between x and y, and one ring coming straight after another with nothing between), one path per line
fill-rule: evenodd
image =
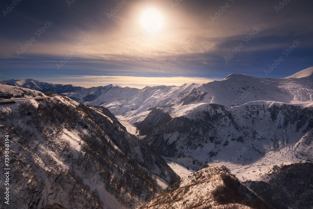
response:
M208 167L180 179L140 209L273 208L233 177L226 167Z

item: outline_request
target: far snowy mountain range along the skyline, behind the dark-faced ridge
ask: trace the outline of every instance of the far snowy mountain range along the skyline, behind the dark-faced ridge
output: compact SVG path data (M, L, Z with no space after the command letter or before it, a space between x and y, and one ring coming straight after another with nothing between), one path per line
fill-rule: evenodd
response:
M134 124L143 120L153 107L177 108L198 103L231 107L254 101L310 103L313 102L312 69L280 79L231 74L221 81L207 84L145 87L141 90L107 86L101 87L106 88L105 91L93 87L64 94L91 106L107 107L115 115L122 115Z

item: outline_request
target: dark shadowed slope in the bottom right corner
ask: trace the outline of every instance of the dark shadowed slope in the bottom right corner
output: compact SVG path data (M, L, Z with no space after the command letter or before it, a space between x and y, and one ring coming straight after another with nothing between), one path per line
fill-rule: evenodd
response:
M313 206L313 163L274 166L264 181L245 182L277 208L311 209Z

